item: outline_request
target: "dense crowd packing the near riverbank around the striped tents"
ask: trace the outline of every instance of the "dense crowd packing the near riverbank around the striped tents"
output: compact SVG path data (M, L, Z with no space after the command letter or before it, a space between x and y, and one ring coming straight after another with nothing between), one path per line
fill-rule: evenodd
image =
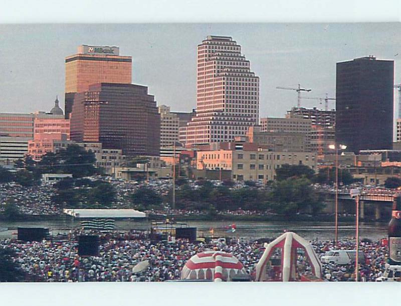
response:
M71 237L70 237L71 238ZM312 246L320 256L333 249L332 242L312 241ZM246 271L255 275L255 266L263 254L263 244L258 241L191 243L177 240L174 243L152 242L143 232L113 233L101 237L99 256L80 257L77 242L45 240L22 243L16 240L3 240L0 247L15 251L15 261L25 273L25 281L165 281L180 278L180 270L195 253L206 250L220 250L234 254L244 265ZM354 242L341 241L340 249L352 249ZM360 250L365 253L361 264L360 279L374 281L381 276L386 261L386 247L380 241L364 242ZM133 268L147 260L149 267L140 273ZM298 255L298 273L308 274L310 266L305 254ZM322 264L322 277L328 281L352 281L355 278L354 265Z

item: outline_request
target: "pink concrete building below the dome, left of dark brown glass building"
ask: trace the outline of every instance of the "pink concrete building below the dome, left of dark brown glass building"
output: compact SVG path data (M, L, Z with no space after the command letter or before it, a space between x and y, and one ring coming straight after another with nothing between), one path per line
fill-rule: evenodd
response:
M70 140L70 120L63 118L35 118L34 139L28 141L28 155L40 161L54 149L54 141Z

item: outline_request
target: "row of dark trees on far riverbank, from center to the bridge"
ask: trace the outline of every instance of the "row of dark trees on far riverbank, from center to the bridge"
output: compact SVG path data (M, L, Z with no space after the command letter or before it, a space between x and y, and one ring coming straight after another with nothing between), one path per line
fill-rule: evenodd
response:
M198 181L197 187L182 184L176 190L176 208L198 210L209 214L225 210L251 210L292 216L298 213L316 215L324 208L324 195L305 177L283 178L273 183L270 190L245 187L230 189L214 186L210 181ZM165 199L154 190L143 187L132 195L134 207L157 209L161 203L172 202L172 191Z

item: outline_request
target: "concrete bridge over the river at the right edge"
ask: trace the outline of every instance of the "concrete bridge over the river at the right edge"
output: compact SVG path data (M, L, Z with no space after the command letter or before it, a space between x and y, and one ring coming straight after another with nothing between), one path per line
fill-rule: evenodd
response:
M359 217L374 216L374 220L390 220L392 201L395 194L399 191L385 189L365 189L361 190L359 198ZM329 192L332 201L332 209L334 206L335 192ZM338 211L339 213L355 213L355 199L351 198L349 191L338 191Z

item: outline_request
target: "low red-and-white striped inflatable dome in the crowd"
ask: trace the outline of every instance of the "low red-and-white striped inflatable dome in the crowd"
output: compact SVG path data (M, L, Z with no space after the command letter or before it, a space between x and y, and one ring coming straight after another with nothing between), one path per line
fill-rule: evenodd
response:
M207 251L193 255L181 270L181 279L231 281L237 274L247 274L233 254Z

